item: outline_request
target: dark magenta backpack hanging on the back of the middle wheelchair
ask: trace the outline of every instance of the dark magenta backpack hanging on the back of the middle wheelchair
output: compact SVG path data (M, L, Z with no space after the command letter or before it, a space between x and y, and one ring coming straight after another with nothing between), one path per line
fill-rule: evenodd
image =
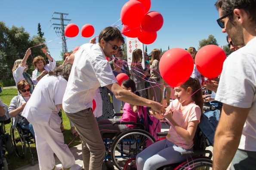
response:
M161 131L160 120L148 114L148 107L142 106L142 112L139 113L139 122L145 124L145 130L148 131L155 140L158 140L160 137L157 136L157 133ZM151 145L151 141L146 141L146 146Z

